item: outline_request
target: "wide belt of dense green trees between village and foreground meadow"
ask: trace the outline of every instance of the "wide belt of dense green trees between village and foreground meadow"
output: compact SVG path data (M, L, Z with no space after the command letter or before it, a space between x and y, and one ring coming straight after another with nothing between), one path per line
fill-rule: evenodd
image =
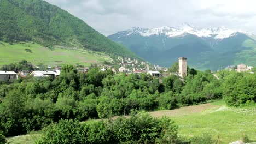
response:
M185 83L174 75L162 81L144 73L126 76L98 68L78 73L66 65L56 79L33 82L28 77L2 84L1 125L4 134L12 136L40 130L60 119L84 121L128 115L132 109L174 109L219 98L214 90L218 80L208 72L189 75Z

